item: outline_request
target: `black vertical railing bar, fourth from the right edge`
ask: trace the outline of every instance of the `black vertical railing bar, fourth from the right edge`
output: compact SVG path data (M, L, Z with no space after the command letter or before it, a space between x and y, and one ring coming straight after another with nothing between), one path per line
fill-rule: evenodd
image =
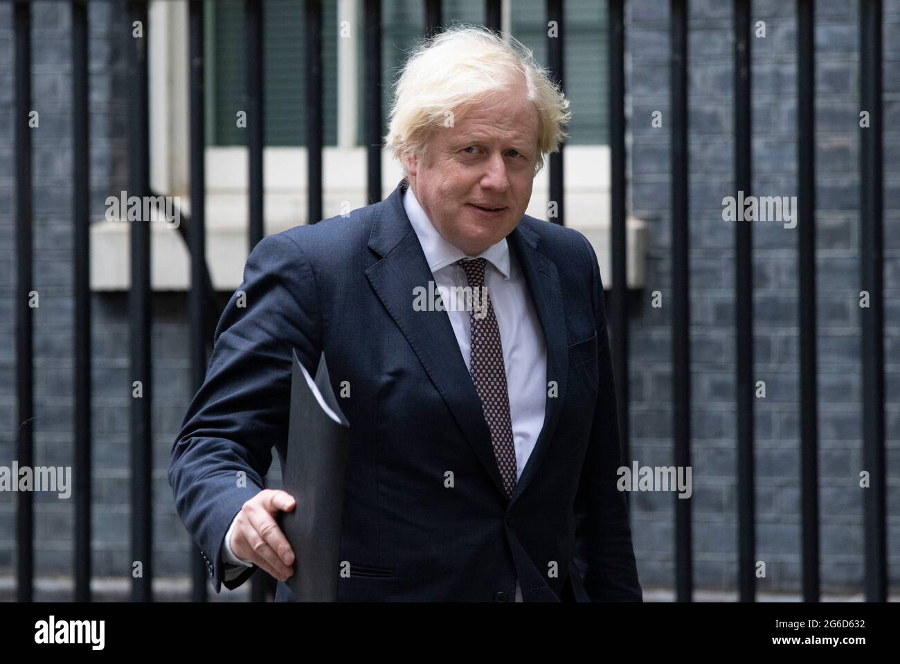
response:
M688 7L671 0L672 433L675 463L690 465L690 301L688 225ZM675 500L675 598L694 587L689 500Z

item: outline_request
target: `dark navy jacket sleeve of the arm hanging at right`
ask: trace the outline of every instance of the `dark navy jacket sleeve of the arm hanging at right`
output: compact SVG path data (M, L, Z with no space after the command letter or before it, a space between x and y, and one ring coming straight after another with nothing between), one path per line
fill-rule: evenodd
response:
M635 551L628 525L626 496L617 489L617 469L622 465L616 386L609 353L603 283L593 247L590 253L594 321L597 328L599 390L590 442L575 496L575 564L581 570L590 599L643 601L637 579Z

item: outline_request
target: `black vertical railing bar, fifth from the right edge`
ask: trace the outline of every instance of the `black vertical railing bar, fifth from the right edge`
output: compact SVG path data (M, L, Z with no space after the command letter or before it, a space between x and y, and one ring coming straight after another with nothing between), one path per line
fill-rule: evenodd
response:
M625 119L625 5L609 0L609 226L612 256L612 355L618 386L618 424L622 458L630 463L628 308L626 254L626 119ZM626 497L629 493L626 491Z

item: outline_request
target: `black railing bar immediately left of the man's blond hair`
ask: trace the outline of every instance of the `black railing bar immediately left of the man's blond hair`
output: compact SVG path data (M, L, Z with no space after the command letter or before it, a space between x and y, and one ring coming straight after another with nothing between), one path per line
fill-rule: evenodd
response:
M365 0L365 159L369 203L382 200L382 2Z

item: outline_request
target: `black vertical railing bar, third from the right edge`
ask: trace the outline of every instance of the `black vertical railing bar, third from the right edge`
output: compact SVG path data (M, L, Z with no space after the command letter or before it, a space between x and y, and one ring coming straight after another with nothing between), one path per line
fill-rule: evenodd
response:
M750 0L734 0L734 188L752 188ZM747 194L749 195L749 194ZM737 354L738 594L755 599L756 521L753 472L753 263L752 229L734 227L735 336Z

